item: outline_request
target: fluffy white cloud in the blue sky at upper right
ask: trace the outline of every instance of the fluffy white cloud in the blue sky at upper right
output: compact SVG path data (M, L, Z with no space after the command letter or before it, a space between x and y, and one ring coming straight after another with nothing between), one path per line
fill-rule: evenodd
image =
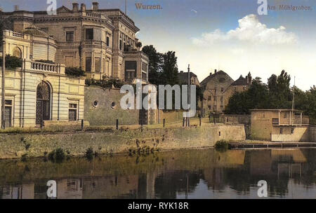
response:
M268 28L259 22L256 15L246 15L238 20L239 27L228 32L216 29L213 32L204 33L200 38L192 39L197 45L212 44L218 41L247 41L251 43L265 44L291 44L296 43L297 36L292 32L286 32L285 27Z

